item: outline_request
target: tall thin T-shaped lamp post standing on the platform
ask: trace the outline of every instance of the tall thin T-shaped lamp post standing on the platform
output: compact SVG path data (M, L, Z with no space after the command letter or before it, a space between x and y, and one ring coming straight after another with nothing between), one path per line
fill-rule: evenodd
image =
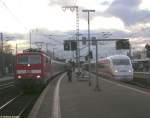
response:
M90 12L95 12L95 10L82 10L82 12L87 12L88 13L88 46L89 46L89 54L90 54ZM89 86L91 86L91 59L90 55L88 56L88 62L89 62Z

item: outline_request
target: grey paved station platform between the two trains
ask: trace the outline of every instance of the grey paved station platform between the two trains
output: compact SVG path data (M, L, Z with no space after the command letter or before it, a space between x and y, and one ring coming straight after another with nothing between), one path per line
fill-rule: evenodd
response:
M54 85L51 85L36 118L150 118L149 91L101 77L99 80L100 91L95 91L94 75L91 86L88 80L79 80L75 74L72 82L64 76L57 98L52 100L55 93L52 94ZM53 110L54 102L59 107L56 111ZM58 113L52 115L52 112Z

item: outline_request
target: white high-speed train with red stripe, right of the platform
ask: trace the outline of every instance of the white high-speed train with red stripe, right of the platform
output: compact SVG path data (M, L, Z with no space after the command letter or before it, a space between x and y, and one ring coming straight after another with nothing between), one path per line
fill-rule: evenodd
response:
M85 65L88 68L88 64ZM133 80L133 68L131 60L126 55L114 55L98 61L98 74L103 77L121 81ZM92 72L95 71L95 63L91 64Z

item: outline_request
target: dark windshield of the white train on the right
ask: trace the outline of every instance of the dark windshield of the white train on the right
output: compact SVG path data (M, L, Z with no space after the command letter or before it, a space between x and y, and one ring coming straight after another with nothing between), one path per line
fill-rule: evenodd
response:
M130 65L129 59L113 59L114 65Z

